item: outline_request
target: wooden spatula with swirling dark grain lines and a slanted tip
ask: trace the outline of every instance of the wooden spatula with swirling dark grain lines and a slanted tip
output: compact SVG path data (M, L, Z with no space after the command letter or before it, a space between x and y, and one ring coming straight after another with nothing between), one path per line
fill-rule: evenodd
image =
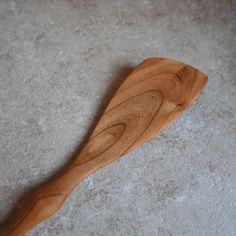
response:
M182 62L150 58L121 84L80 154L40 187L0 235L24 235L53 215L89 174L145 143L198 96L207 76Z

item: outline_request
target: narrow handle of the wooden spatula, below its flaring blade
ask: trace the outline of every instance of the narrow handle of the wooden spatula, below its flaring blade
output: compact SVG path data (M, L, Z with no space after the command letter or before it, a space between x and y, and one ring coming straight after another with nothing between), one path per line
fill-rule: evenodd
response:
M76 166L39 187L10 224L0 230L0 235L24 235L32 227L53 215L84 176L83 169Z

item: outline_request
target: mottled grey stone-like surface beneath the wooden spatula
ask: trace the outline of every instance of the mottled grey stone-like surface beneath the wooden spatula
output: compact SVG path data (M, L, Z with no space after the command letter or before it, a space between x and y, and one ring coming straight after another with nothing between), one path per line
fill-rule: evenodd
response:
M174 124L86 178L27 236L236 235L235 0L1 0L0 220L83 141L152 56L207 87Z

